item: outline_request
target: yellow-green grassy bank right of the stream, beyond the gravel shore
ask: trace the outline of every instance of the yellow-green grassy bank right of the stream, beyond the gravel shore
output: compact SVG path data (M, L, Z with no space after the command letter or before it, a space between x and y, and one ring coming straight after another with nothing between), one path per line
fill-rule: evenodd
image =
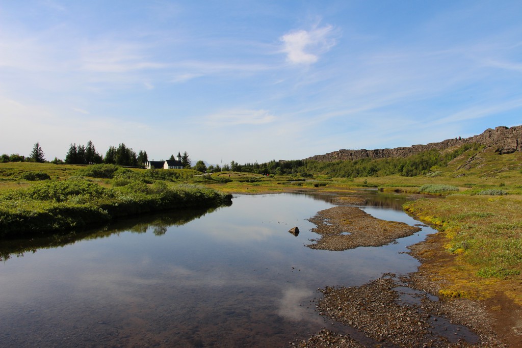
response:
M404 209L435 225L452 262L432 265L441 295L485 298L502 292L522 305L522 196L449 195L419 199Z

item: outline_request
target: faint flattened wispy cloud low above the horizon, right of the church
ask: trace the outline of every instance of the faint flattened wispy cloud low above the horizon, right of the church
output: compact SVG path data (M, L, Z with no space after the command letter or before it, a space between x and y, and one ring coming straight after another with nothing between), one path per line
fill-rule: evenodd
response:
M276 116L267 110L229 110L207 116L207 126L262 125L274 122Z

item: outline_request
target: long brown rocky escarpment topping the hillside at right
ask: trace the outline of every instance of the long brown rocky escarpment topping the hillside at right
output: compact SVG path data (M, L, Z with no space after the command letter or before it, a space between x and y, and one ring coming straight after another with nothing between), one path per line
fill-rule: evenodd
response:
M431 142L426 145L413 145L395 149L376 150L339 150L326 154L319 154L307 158L319 162L333 162L339 160L360 160L364 158L408 157L410 155L432 149L444 150L449 147L462 146L466 143L477 142L485 146L495 147L500 153L522 151L522 126L507 128L504 126L487 129L480 135L469 138L447 139L441 142Z

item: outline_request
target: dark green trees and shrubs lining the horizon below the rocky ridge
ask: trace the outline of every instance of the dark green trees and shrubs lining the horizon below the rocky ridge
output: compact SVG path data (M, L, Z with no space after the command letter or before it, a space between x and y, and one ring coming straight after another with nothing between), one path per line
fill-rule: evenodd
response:
M437 167L446 166L447 163L460 154L472 149L478 150L483 148L483 145L478 143L471 143L462 145L460 148L441 153L438 150L423 151L406 158L383 158L383 159L360 159L354 161L335 161L335 162L318 162L315 160L291 160L291 161L269 161L266 163L245 163L231 161L220 166L205 165L203 161L197 161L194 169L200 172L247 172L256 174L271 174L271 175L299 175L301 177L313 175L327 175L330 177L366 177L366 176L387 176L387 175L401 175L401 176L416 176L427 174ZM174 155L171 155L171 160L175 160ZM25 158L19 154L3 154L0 157L1 162L44 162L44 153L39 143L35 143L30 157ZM60 164L115 164L121 166L141 166L148 161L146 151L140 150L137 154L133 149L120 143L117 147L111 146L103 157L92 141L88 141L87 145L71 144L65 161L54 159L52 163ZM184 168L191 168L191 160L185 151L181 156L181 162Z

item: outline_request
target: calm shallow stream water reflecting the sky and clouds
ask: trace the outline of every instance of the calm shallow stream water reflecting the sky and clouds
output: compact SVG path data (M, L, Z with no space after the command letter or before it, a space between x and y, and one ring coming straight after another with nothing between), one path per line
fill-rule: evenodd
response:
M404 196L367 193L367 213L417 224ZM239 195L214 211L162 213L31 244L0 243L0 346L286 346L331 323L319 287L360 285L418 261L397 243L305 247L332 196ZM298 226L300 233L288 231Z

